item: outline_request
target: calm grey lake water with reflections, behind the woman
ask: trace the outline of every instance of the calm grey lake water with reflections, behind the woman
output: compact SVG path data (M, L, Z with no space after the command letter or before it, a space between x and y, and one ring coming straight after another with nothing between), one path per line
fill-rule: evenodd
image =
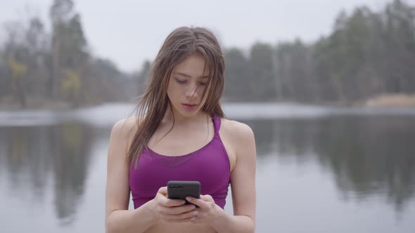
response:
M104 232L110 129L131 110L0 112L0 232ZM255 132L256 232L415 232L415 109L224 110Z

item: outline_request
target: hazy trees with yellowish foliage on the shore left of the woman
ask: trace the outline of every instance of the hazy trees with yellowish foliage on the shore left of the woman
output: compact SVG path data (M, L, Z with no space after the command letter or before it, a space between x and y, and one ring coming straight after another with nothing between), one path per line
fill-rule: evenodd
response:
M39 16L7 22L0 48L0 100L69 102L72 107L125 101L136 95L133 74L91 54L72 0L49 8L51 30ZM134 85L132 85L134 84Z

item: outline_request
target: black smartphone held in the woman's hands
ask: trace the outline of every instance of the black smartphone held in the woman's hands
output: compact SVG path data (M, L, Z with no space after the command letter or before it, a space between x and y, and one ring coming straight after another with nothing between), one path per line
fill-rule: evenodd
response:
M182 199L186 204L191 204L186 197L200 199L200 182L170 180L167 182L167 197L169 199Z

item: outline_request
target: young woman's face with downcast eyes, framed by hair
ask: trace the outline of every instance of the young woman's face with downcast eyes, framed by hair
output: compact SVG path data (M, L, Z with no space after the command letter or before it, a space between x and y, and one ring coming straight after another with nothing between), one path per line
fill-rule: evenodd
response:
M176 65L170 75L167 96L172 102L175 114L195 116L203 106L200 99L207 88L209 71L205 68L205 59L198 54L189 55Z

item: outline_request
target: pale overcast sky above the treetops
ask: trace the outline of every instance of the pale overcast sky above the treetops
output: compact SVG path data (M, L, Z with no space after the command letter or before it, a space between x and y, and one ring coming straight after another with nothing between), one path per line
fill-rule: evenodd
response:
M0 0L0 23L23 17L25 6L46 21L52 1ZM390 1L75 0L75 8L94 55L110 58L120 69L131 72L144 60L153 60L167 34L182 25L209 27L225 48L247 49L255 41L276 44L295 37L314 41L331 32L341 9L350 12L365 5L379 11ZM415 5L415 0L406 2Z

